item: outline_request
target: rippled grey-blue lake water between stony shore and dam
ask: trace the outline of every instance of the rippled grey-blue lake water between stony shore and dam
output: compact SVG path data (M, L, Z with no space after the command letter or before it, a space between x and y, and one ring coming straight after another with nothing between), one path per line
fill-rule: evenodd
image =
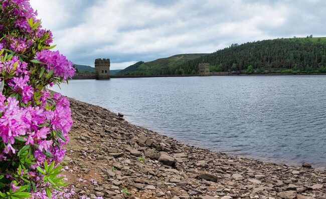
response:
M53 90L216 151L326 166L326 76L71 80Z

